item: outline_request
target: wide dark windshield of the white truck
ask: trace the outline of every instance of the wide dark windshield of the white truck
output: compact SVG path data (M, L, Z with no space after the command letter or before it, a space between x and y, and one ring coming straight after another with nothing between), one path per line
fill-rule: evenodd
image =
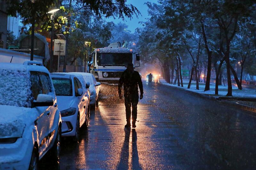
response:
M132 53L98 53L99 66L127 66L132 63Z

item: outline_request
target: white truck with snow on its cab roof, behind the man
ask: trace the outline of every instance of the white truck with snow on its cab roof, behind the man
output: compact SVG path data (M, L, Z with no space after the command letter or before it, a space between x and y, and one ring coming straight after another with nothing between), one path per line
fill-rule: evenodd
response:
M132 49L120 47L120 42L111 43L108 47L97 48L90 54L88 71L97 81L116 84L128 63L140 66L140 55Z

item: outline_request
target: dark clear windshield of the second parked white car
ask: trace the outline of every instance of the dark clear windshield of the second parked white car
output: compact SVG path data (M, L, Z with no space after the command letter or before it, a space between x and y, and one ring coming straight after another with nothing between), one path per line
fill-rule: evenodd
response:
M72 81L68 78L52 78L56 96L73 96Z

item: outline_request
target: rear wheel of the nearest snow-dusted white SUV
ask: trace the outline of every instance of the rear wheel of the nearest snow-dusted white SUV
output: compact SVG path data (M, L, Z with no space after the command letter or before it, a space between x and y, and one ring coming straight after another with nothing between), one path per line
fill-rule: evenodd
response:
M56 139L54 141L54 145L52 146L50 151L50 160L54 165L56 165L56 167L59 166L59 161L60 161L60 141L61 141L61 130L59 127Z

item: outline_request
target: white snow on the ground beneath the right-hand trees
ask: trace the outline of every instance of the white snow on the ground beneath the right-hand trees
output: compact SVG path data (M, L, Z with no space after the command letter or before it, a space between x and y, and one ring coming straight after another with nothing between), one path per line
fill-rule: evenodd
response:
M194 91L194 92L201 93L201 94L211 95L213 97L226 97L226 95L228 93L228 85L226 85L226 84L225 84L225 86L223 86L223 85L219 86L219 95L215 95L215 84L213 84L213 83L210 83L210 90L204 91L204 87L205 87L204 82L199 82L199 90L197 90L196 89L196 81L192 81L190 89L188 89L188 82L189 82L188 79L183 80L184 87L179 87L178 81L176 82L176 85L167 83L163 78L159 78L158 81L160 83L168 85L168 86L183 88L183 89L186 89L189 91ZM254 98L254 97L256 97L256 92L255 92L255 90L249 90L249 89L239 90L239 89L237 89L237 87L232 86L232 95L233 95L233 97Z

